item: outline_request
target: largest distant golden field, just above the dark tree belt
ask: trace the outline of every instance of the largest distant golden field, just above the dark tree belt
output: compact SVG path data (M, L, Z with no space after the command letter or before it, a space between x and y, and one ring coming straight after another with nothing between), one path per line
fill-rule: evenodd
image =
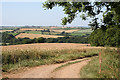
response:
M64 36L56 36L56 35L43 35L43 34L28 34L28 33L20 33L16 36L16 38L24 38L28 37L30 39L44 37L44 38L58 38L58 37L64 37Z

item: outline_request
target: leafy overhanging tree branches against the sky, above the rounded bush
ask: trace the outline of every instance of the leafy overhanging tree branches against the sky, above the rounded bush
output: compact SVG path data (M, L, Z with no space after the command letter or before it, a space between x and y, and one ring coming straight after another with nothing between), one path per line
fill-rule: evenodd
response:
M101 0L102 1L102 0ZM67 17L62 19L62 24L71 23L75 17L80 16L83 20L92 18L90 26L95 30L108 25L120 25L120 2L49 2L43 4L45 9L52 9L55 6L62 6ZM102 24L98 23L97 15L102 14Z

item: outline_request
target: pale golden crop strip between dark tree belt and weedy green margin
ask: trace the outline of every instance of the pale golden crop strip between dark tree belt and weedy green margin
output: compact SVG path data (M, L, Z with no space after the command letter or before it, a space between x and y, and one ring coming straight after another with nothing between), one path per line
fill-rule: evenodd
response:
M89 44L75 44L75 43L35 43L2 46L3 51L11 50L62 50L62 49L98 49L101 47L91 47Z

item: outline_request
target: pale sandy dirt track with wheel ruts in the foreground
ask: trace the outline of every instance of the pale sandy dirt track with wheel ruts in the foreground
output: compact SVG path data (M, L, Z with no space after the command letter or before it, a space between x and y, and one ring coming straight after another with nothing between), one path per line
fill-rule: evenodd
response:
M71 64L54 71L57 67L68 62L80 61L79 63ZM90 59L77 59L61 64L42 65L30 68L25 72L17 74L6 74L3 77L9 78L80 78L80 69L85 66ZM53 72L54 71L54 72Z

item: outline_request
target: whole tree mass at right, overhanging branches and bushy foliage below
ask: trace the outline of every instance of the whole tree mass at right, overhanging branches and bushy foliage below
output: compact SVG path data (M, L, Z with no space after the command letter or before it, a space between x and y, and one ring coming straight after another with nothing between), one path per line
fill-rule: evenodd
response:
M101 2L100 2L101 1ZM109 0L110 1L110 0ZM114 0L111 0L114 1ZM119 2L50 2L43 4L45 9L62 6L67 17L62 19L62 25L71 23L78 14L86 20L91 18L88 24L94 30L89 37L89 43L94 46L120 46L120 1ZM102 15L102 17L98 17ZM101 19L101 21L100 21Z

